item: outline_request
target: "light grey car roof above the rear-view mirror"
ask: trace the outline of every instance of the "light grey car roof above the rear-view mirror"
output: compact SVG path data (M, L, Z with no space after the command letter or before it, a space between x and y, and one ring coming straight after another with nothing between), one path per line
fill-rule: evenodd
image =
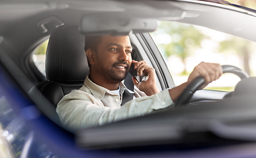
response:
M127 13L127 16L174 20L205 26L256 41L256 37L251 36L251 32L256 26L255 13L230 5L194 0L0 1L0 34L6 39L15 35L18 38L17 40L19 40L21 37L24 37L24 34L32 36L29 35L29 32L33 31L33 34L35 34L37 29L38 34L42 36L42 34L49 33L44 32L45 30L42 28L42 23L49 20L49 18L56 18L60 24L80 24L83 15L95 12L124 12ZM11 28L9 27L10 24L12 24ZM11 30L11 34L9 30ZM12 41L15 42L14 39Z

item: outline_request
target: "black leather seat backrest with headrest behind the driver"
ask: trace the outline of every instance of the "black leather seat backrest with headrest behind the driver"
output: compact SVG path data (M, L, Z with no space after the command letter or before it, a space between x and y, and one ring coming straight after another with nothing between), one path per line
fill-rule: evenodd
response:
M52 32L46 51L46 78L29 93L44 105L44 97L55 107L64 95L83 86L89 73L84 51L85 37L77 25L65 24Z

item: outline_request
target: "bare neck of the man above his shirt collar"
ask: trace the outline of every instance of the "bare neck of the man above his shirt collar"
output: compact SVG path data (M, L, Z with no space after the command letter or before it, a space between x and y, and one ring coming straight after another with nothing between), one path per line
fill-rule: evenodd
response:
M108 82L104 80L104 78L95 76L93 74L89 74L89 78L93 83L99 86L102 86L103 88L107 88L108 90L118 90L118 86L120 84L120 82L119 83Z

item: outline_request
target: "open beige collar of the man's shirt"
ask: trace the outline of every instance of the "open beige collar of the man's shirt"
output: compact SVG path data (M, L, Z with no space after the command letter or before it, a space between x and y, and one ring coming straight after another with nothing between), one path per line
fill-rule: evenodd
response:
M86 86L90 90L90 92L99 99L103 99L106 93L109 93L110 95L116 95L116 93L111 92L107 88L103 88L102 86L99 86L91 81L89 78L89 74L87 74L85 78L84 86ZM131 90L128 90L128 88L126 88L126 86L122 82L120 82L119 87L120 94L124 93L125 90L127 90L129 93L134 93Z

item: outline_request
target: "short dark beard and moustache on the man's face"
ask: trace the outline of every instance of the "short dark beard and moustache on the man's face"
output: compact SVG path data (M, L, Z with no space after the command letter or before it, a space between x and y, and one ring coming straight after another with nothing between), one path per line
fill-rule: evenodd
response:
M125 71L118 72L118 70L115 69L116 65L126 65ZM105 68L105 66L101 66L101 68L99 68L99 72L101 73L103 78L105 78L105 80L111 83L122 82L122 80L126 78L129 70L130 70L130 66L128 65L128 63L120 62L120 61L112 64L110 70Z

